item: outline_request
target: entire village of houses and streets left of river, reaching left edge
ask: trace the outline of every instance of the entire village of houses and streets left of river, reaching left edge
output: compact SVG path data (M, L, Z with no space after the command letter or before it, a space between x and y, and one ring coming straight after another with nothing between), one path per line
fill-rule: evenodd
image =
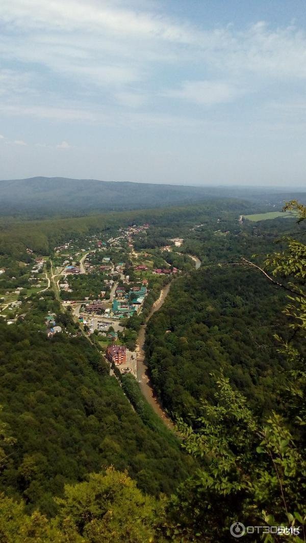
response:
M172 238L158 250L135 250L135 242L145 240L149 229L145 223L114 229L108 235L103 231L79 235L54 247L51 257L37 255L28 248L29 263L24 264L22 273L18 272L22 279L16 279L8 269L0 270L2 280L7 275L3 281L7 290L0 291L0 316L8 325L27 318L32 295L38 294L38 301L43 301L46 291L52 291L63 312L70 313L78 323L78 333L96 344L111 367L136 377L137 326L143 311L154 302L153 293L156 299L180 273L167 262L166 255L171 251L176 251L177 257L182 255L179 249L184 241ZM52 311L45 315L41 326L48 339L65 333Z

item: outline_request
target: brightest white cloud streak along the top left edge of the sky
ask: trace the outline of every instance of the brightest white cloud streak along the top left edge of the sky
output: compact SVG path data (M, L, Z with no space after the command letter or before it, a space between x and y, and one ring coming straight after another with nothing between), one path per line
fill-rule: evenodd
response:
M119 8L114 2L87 0L2 0L3 21L15 28L106 31L122 36L195 41L195 29L150 12ZM67 16L68 14L68 16ZM199 33L199 37L201 33Z

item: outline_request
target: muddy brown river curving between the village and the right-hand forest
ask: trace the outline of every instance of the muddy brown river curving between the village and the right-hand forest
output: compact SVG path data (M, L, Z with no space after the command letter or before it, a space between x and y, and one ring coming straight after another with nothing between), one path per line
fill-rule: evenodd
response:
M201 260L197 256L188 255L195 262L196 269L199 269L201 266ZM170 416L161 408L157 398L155 397L154 390L148 375L148 368L145 363L145 339L146 339L146 329L148 320L152 315L158 311L161 306L164 304L164 301L167 298L168 292L170 291L171 282L161 290L159 298L154 302L151 311L149 312L145 324L140 327L137 339L137 379L143 396L145 396L147 402L151 405L155 413L159 416L161 420L164 421L165 425L170 428L170 430L175 430L174 424L170 419Z

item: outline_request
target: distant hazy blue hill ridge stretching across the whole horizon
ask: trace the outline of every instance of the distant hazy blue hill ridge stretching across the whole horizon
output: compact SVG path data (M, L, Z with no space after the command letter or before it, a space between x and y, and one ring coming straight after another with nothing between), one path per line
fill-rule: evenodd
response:
M205 181L205 180L204 180ZM186 180L186 183L190 182ZM192 204L211 198L246 198L263 205L282 207L292 194L271 188L209 187L137 182L34 177L0 181L0 214L45 216L88 214L105 210L132 210ZM303 201L305 193L295 194Z

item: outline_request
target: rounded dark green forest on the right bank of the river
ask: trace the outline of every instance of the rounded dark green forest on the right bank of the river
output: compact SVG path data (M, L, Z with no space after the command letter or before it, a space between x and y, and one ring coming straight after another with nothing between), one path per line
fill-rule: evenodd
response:
M284 299L250 269L200 268L175 281L147 326L149 370L163 405L190 420L202 399L213 401L211 372L223 369L255 411L274 408L286 369L273 342L284 327Z

